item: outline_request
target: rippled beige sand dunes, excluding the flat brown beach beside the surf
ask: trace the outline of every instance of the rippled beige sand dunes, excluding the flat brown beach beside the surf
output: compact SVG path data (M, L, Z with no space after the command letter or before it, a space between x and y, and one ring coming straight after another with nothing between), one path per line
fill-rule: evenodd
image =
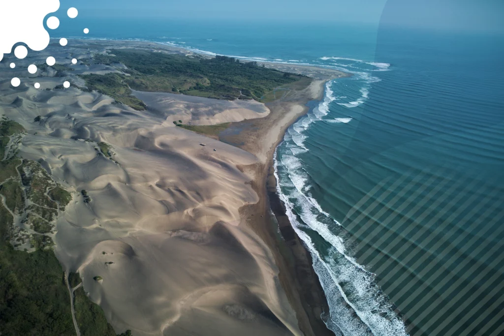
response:
M5 83L0 112L28 130L20 155L73 192L57 221L56 254L116 331L301 334L269 248L238 212L259 198L253 176L236 166L258 159L166 122L170 113L200 124L259 117L269 113L263 105L249 103L246 114L246 102L171 97L162 113L138 112L96 92ZM111 146L110 158L98 142Z

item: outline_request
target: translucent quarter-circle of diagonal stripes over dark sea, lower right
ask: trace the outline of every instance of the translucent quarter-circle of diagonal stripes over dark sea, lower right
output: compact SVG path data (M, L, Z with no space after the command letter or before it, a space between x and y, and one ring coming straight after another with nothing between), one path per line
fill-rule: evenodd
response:
M412 336L504 331L504 193L445 169L387 178L348 212L354 257Z

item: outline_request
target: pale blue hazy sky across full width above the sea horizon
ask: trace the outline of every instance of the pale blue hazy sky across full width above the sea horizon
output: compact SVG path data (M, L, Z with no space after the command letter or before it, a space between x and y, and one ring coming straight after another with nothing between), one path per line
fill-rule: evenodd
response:
M451 30L504 31L504 0L87 0L65 1L88 17L379 22ZM383 14L383 15L382 15ZM139 27L140 28L140 27Z

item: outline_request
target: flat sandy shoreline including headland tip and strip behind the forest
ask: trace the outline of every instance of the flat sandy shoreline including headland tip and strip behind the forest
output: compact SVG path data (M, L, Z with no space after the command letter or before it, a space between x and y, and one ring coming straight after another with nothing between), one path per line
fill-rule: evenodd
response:
M128 41L130 43L113 42L131 47L132 41ZM146 43L147 45L145 45ZM135 41L134 44L136 46L133 47L139 45L148 48L162 46L168 52L175 51L186 53L186 55L197 54L203 57L213 57L159 42ZM305 335L334 336L334 332L327 327L323 320L323 315L329 313L329 304L319 277L314 271L311 254L295 233L286 215L285 206L277 194L274 154L278 145L283 141L287 129L310 110L307 106L308 102L322 101L328 82L338 78L351 77L353 74L304 64L269 61L258 61L258 63L265 64L268 68L306 75L310 77L310 83L305 88L300 88L299 91L302 91L300 95L294 95L294 98L288 101L265 104L271 111L269 116L233 123L238 130L238 136L221 139L221 141L224 140L223 142L256 155L261 161L261 163L251 166L237 167L242 172L254 176L250 184L259 196L257 204L243 206L239 209L241 222L256 232L273 253L281 287L296 313L300 330ZM266 121L275 115L279 115L280 118L273 118L271 123L270 120ZM251 129L257 128L257 124L261 123L267 123L266 127L259 126L259 129L263 130L262 132L250 132Z

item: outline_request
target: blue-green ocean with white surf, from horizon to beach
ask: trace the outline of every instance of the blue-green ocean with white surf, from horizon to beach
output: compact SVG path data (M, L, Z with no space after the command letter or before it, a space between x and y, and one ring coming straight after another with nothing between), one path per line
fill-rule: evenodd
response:
M278 193L336 335L497 335L504 312L504 37L317 22L63 21L349 72L287 131Z

